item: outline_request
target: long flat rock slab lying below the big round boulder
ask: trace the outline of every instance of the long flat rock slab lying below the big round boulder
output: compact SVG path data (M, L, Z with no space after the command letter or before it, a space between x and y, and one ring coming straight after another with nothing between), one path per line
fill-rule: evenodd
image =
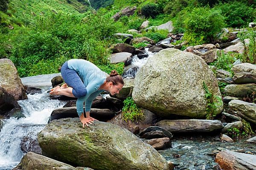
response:
M221 121L201 119L161 120L155 125L172 133L212 132L223 128Z

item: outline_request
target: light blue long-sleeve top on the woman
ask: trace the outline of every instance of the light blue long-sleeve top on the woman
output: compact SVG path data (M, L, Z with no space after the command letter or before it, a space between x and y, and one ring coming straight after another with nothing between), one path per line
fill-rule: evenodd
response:
M87 94L76 101L76 111L80 117L84 113L84 102L85 112L90 111L93 100L104 91L99 90L99 87L105 82L108 74L84 59L70 59L67 65L71 70L76 71L87 90Z

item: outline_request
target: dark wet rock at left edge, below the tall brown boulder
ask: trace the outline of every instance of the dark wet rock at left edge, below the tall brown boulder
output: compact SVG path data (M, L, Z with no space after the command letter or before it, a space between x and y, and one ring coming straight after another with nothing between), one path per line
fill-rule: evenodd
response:
M0 115L6 119L13 116L17 118L24 116L15 97L2 87L0 87Z

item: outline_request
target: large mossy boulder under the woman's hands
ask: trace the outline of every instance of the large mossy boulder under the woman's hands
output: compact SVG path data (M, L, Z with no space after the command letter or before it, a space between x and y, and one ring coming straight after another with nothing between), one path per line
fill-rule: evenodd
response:
M82 128L79 118L54 120L38 134L49 158L96 170L169 170L166 159L128 130L94 122Z

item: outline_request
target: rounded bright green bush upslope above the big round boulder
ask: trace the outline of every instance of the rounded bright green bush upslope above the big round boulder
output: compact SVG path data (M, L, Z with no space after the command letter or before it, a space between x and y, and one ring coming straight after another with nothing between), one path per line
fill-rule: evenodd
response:
M224 17L219 10L194 8L186 15L184 27L184 39L191 44L202 44L216 38L216 34L224 27Z

